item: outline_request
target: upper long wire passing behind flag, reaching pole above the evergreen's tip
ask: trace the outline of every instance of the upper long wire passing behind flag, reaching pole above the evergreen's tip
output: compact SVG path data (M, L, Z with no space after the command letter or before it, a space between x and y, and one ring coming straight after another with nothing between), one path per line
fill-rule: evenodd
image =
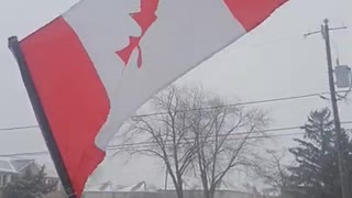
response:
M341 92L343 92L343 91L341 91ZM249 102L215 106L215 107L208 107L208 108L179 110L177 112L198 111L198 110L212 110L212 109L219 109L219 108L229 108L229 107L238 107L238 106L250 106L250 105L258 105L258 103L268 103L268 102L276 102L276 101L285 101L285 100L295 100L295 99L302 99L302 98L319 97L321 95L328 95L328 94L329 92L321 92L321 94L309 94L309 95L300 95L300 96L293 96L293 97L282 97L282 98L274 98L274 99L266 99L266 100L256 100L256 101L249 101ZM167 112L155 112L155 113L138 114L138 116L133 116L132 118L154 117L154 116L162 116L162 114L166 114L166 113ZM38 125L0 128L0 132L25 130L25 129L37 129L37 128L38 128Z

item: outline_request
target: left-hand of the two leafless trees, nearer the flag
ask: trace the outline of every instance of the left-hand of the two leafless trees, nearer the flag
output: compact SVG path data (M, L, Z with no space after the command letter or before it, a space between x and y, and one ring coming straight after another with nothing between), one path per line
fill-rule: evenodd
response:
M178 198L184 197L184 175L197 151L196 143L189 143L189 119L193 98L186 89L169 87L151 100L153 111L148 117L134 117L130 123L129 140L136 135L146 136L147 144L132 146L132 154L156 156L163 161Z

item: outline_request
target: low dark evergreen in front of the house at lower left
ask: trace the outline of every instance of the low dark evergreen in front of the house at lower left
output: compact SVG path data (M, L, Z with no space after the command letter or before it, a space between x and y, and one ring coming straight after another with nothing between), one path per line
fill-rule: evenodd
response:
M45 167L33 174L26 169L23 176L18 177L3 188L4 198L42 198L53 191L57 184L45 183Z

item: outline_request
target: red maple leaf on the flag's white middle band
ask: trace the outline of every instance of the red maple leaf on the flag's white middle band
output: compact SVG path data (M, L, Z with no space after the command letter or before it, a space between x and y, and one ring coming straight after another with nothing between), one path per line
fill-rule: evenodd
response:
M130 44L121 51L118 51L117 54L124 62L127 66L131 58L132 52L134 48L139 51L138 57L138 66L141 68L142 66L142 51L140 47L140 42L145 32L152 26L152 24L156 21L156 10L158 6L158 0L141 0L141 11L136 13L132 13L131 16L136 21L136 23L142 29L141 36L134 37L130 36Z

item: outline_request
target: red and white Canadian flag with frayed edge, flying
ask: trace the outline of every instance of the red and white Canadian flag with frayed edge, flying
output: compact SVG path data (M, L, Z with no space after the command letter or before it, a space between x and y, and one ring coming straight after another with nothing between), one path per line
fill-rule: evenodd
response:
M84 0L20 41L76 195L139 107L285 1Z

